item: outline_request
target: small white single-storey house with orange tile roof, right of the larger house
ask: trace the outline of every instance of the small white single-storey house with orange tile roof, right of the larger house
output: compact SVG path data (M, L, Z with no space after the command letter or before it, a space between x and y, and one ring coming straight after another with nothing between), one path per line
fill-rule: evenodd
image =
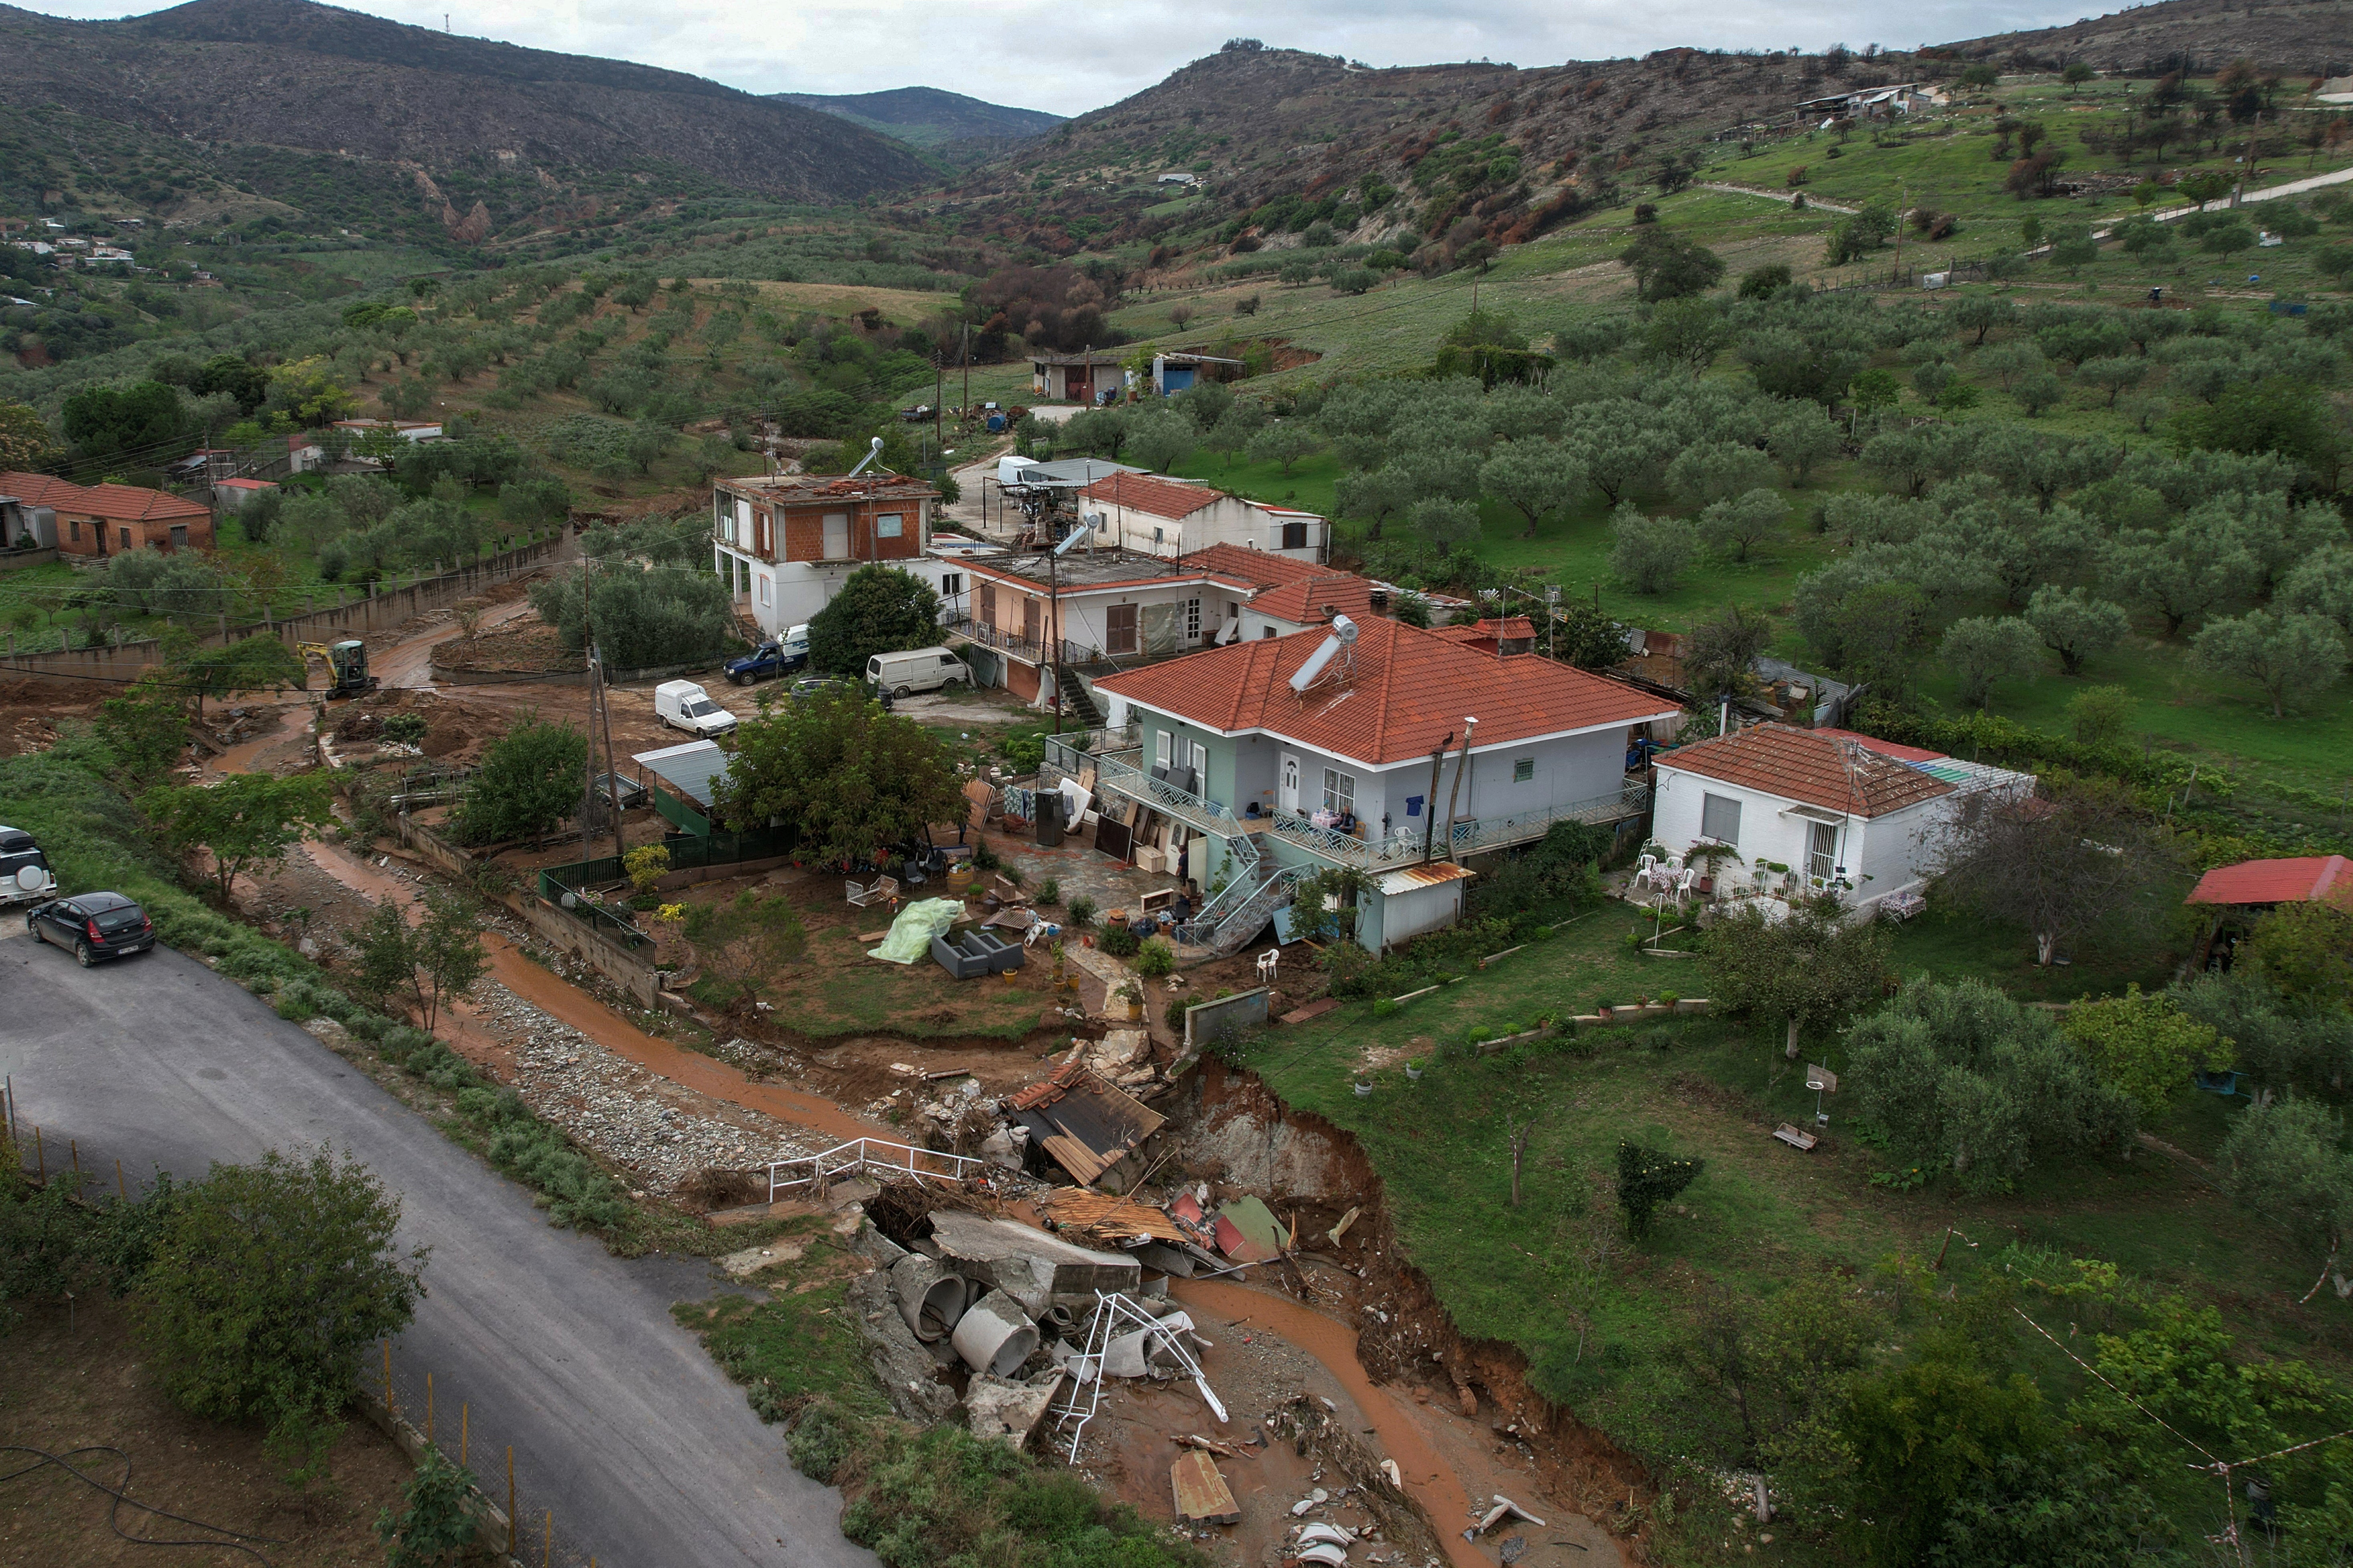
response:
M1854 910L1915 893L1941 870L1960 802L2033 790L2031 773L1960 762L1845 729L1758 724L1657 757L1652 839L1715 858L1715 891L1812 896Z

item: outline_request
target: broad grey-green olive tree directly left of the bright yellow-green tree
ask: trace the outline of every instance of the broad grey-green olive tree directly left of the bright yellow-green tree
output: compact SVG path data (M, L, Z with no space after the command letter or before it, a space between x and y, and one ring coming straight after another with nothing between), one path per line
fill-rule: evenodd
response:
M1984 980L1915 980L1847 1030L1847 1086L1894 1152L2000 1192L2026 1171L2129 1147L2132 1100L2049 1018Z

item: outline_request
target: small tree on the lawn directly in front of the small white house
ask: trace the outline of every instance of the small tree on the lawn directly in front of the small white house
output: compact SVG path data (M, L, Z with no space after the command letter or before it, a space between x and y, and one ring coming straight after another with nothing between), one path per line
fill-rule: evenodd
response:
M1798 1060L1802 1032L1842 1023L1887 980L1887 933L1875 922L1849 924L1833 896L1802 900L1781 922L1760 910L1720 917L1699 952L1718 1004L1779 1027L1788 1060Z

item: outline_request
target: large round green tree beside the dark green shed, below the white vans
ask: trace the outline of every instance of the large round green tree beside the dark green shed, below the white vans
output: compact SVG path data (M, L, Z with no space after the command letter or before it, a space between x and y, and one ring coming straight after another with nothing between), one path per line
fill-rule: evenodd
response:
M776 708L734 731L713 811L734 832L791 823L802 851L852 863L962 813L948 748L859 691Z

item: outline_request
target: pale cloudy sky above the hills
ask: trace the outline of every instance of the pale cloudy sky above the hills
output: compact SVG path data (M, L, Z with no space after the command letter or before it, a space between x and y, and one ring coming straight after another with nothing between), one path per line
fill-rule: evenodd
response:
M33 0L56 16L125 16L120 0ZM995 103L1078 115L1151 87L1235 35L1346 54L1372 66L1494 59L1553 66L1647 54L1671 45L1824 49L1833 42L1915 47L2085 14L2082 0L1913 0L1892 14L1866 0L362 0L393 21L442 26L534 49L602 54L708 75L746 92L878 92L946 87ZM2111 7L2101 7L2111 9ZM1904 28L1889 33L1889 28Z

